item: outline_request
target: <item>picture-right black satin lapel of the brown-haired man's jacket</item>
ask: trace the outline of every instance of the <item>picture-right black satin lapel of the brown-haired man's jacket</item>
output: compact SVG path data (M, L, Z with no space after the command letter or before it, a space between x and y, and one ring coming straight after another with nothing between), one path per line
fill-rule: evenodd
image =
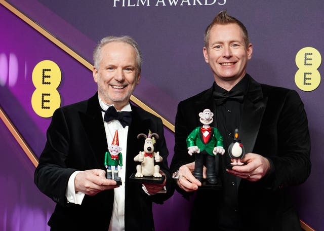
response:
M264 98L261 85L250 75L247 99L244 101L242 119L239 128L239 138L245 147L246 153L252 152L258 136L263 114L268 98Z

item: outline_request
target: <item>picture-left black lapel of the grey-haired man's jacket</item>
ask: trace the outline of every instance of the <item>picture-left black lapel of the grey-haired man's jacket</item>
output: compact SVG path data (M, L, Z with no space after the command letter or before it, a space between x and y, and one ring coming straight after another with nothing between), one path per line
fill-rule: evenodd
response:
M80 113L80 118L88 136L91 148L94 151L93 155L95 156L98 165L103 167L104 156L108 145L98 101L98 94L88 100L87 111L86 113Z

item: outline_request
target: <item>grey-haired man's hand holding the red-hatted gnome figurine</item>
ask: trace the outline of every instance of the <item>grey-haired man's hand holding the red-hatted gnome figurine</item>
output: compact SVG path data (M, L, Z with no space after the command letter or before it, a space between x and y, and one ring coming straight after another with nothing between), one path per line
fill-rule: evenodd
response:
M106 172L101 169L91 169L79 172L74 179L75 192L94 196L100 191L119 187L116 181L106 179Z

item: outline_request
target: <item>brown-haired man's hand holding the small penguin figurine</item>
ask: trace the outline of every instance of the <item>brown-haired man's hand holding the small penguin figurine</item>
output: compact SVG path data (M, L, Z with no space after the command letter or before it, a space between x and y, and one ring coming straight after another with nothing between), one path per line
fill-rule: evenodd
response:
M270 171L268 159L256 154L247 153L241 162L247 162L247 165L233 166L232 169L226 169L230 174L249 181L258 181Z

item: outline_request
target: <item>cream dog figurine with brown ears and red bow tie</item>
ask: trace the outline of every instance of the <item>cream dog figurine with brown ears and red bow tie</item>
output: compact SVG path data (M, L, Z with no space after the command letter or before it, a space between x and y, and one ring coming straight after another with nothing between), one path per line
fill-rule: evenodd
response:
M144 151L140 151L139 154L136 157L134 157L134 161L141 162L140 165L136 166L135 177L162 177L162 175L159 173L160 166L154 165L154 161L161 162L163 158L159 155L158 151L154 151L153 139L151 138L155 137L156 139L158 139L158 134L151 133L147 136L144 133L140 133L137 135L137 138L139 139L140 137L145 138Z

